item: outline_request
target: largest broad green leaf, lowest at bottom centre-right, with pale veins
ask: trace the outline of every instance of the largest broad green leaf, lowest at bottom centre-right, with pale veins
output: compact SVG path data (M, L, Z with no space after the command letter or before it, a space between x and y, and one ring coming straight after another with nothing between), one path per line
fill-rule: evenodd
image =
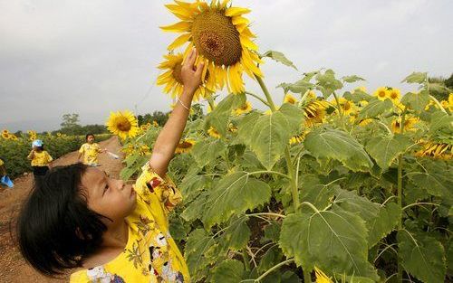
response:
M305 207L305 211L309 208ZM290 214L284 218L280 247L298 266L377 279L368 262L365 222L336 207L329 211Z

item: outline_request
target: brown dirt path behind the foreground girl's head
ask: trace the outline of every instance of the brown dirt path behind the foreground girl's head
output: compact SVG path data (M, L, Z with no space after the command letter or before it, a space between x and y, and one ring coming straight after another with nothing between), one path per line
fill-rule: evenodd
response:
M117 137L111 137L100 143L101 148L120 155L120 143ZM53 165L70 165L77 162L77 152L62 156L53 162ZM120 155L121 156L121 155ZM111 177L119 178L121 161L109 157L107 154L99 156L101 169ZM20 209L33 185L33 174L24 175L14 180L14 189L0 187L0 282L68 282L68 277L62 279L45 278L28 266L19 251L10 231L14 231L15 215Z

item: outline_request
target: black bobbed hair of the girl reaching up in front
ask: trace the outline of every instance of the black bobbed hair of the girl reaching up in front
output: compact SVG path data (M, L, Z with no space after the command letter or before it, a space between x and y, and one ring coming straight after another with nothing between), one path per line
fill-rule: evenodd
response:
M101 214L88 208L81 190L87 165L54 167L37 184L17 220L19 248L34 269L46 276L82 267L101 245L107 230Z

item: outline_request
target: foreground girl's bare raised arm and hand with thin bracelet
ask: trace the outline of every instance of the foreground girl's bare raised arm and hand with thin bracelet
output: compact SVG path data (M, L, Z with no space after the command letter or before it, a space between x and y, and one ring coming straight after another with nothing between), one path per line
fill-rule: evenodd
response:
M197 50L193 49L182 64L181 78L184 89L152 149L149 165L162 177L167 174L169 162L175 153L175 148L179 143L184 127L186 127L192 98L201 83L201 73L204 66L201 62L195 68L196 58Z

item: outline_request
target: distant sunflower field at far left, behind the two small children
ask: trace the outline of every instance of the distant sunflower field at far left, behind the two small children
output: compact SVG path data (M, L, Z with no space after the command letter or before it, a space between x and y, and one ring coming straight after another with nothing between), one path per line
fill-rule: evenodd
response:
M110 134L96 135L97 141L111 137ZM31 172L30 160L26 158L32 150L34 139L43 140L44 148L56 159L74 150L77 150L85 143L85 136L67 136L61 133L56 135L37 134L29 130L26 134L16 137L7 129L2 131L0 137L0 158L5 162L7 174L14 178L24 172Z

